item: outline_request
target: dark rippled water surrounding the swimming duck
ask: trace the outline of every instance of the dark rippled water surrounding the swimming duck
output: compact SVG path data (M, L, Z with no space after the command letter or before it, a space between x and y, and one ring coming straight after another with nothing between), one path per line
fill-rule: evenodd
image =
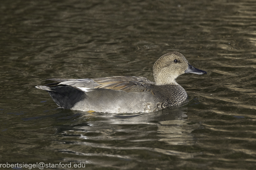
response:
M255 9L254 0L1 0L0 162L255 169ZM208 72L177 79L189 102L176 109L58 109L34 87L48 78L153 81L154 62L170 51Z

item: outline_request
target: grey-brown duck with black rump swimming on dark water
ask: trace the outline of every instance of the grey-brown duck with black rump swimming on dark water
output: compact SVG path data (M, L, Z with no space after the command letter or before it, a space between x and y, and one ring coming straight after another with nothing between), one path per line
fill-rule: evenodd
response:
M144 77L114 76L95 79L48 80L57 83L38 85L63 109L106 113L152 112L184 103L188 95L176 82L184 73L207 74L190 65L179 52L161 56L153 65L155 82Z

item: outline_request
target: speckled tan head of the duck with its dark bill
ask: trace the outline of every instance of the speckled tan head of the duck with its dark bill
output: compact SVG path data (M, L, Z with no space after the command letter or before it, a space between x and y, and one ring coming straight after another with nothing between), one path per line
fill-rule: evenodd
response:
M171 52L160 57L153 66L153 73L157 85L177 84L176 78L183 73L207 74L199 70L185 59L178 52Z

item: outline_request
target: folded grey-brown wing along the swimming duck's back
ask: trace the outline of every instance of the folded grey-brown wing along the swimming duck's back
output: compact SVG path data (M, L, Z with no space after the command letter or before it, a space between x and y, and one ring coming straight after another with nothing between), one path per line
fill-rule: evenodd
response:
M149 81L144 77L134 77L134 76L114 76L105 77L97 79L48 79L61 83L58 85L70 85L80 89L90 89L90 88L108 88L113 90L123 90L123 91L144 91L143 89L154 85L154 82ZM55 83L56 84L56 83ZM55 85L48 84L48 85Z

